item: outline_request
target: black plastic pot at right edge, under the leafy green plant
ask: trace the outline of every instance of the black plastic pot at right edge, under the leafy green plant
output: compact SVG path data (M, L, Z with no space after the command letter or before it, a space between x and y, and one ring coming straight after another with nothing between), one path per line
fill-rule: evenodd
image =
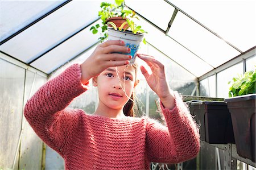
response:
M247 94L226 98L231 114L237 154L255 162L255 98Z

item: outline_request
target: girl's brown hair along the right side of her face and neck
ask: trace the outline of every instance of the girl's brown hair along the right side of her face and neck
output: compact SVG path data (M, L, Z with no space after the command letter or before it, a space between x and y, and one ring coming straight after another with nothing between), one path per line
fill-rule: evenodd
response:
M135 69L135 81L137 80L137 68L138 68L138 65L136 63L134 63L132 65ZM134 114L134 102L131 100L133 99L133 101L135 101L135 97L134 97L134 94L132 93L131 94L131 97L129 99L129 101L127 101L127 103L125 104L125 106L123 106L123 113L127 116L127 117L134 117L135 114Z

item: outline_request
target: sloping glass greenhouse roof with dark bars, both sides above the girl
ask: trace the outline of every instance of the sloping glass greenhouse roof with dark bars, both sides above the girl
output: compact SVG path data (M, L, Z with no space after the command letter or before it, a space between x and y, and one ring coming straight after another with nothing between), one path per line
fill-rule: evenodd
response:
M50 74L99 43L101 2L1 0L0 51ZM125 2L148 44L196 77L255 48L255 1Z

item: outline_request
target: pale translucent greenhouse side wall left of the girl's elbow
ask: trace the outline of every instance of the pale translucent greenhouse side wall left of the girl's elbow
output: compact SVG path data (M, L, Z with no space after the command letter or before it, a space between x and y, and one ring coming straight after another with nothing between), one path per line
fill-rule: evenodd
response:
M40 169L43 142L24 119L23 107L47 75L0 54L0 169Z

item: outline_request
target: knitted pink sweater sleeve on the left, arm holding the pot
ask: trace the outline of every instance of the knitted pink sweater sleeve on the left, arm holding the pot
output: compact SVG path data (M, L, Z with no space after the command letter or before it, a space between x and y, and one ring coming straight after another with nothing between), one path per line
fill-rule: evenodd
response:
M79 126L79 111L66 107L87 89L80 80L80 65L73 64L44 84L24 107L24 116L36 134L61 156Z

